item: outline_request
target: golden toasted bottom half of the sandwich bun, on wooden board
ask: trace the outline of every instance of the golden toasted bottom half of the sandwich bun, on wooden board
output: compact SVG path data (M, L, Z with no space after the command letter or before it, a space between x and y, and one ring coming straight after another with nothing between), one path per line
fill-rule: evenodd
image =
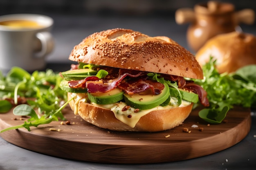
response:
M67 93L71 99L72 93ZM142 116L134 128L119 121L115 114L107 108L94 106L78 98L74 98L69 103L70 108L90 124L116 131L134 132L157 132L172 129L182 124L191 113L193 103L183 107L173 107L165 110L155 110Z

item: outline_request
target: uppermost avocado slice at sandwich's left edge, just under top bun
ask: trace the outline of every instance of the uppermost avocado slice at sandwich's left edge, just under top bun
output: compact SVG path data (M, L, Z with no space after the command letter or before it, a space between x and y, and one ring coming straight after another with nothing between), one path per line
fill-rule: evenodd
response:
M61 72L61 74L66 80L80 80L90 75L96 75L97 71L89 68L85 68L85 69L68 70L68 71Z

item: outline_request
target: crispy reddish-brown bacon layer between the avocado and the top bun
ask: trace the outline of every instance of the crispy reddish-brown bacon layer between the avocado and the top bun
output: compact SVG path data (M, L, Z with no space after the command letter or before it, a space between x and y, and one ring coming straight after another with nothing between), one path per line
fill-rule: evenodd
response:
M117 76L114 71L110 71L108 79L99 79L96 76L86 77L82 80L72 80L68 82L70 88L87 88L89 93L102 93L115 89L117 86L124 90L128 94L141 93L151 88L155 95L160 94L164 89L164 85L153 81L146 80L146 72L135 71L119 68L119 74ZM116 77L117 76L117 77ZM133 79L128 82L123 81L125 77L139 77L139 79ZM144 77L143 77L144 76ZM113 78L116 77L116 78ZM184 88L188 91L198 94L199 101L203 106L209 106L207 99L207 92L193 81L186 81L183 77L175 75L162 75L164 79L169 81L177 81L179 88Z

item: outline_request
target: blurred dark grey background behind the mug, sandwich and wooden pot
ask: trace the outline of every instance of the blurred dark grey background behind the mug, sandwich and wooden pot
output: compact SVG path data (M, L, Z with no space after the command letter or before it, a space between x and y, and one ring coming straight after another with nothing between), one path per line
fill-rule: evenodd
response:
M12 13L44 14L54 19L55 49L49 62L69 63L73 47L88 35L106 29L126 28L150 36L165 35L189 49L188 24L175 22L175 11L193 8L208 0L0 0L0 15ZM234 4L236 11L254 9L254 0L219 0ZM256 24L241 24L244 32L256 35ZM189 49L191 51L191 49ZM193 51L191 51L193 52Z

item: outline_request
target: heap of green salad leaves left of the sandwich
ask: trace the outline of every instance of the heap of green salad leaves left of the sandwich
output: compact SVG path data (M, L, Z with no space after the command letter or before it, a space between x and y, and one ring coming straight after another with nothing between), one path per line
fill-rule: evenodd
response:
M47 124L51 121L65 120L61 109L67 100L67 93L60 88L61 76L48 69L46 71L34 71L28 73L20 67L13 67L3 76L0 73L0 113L6 113L13 109L15 115L28 115L30 119L23 125L7 128L7 130L24 127L28 130L30 126ZM27 104L20 102L26 99ZM11 101L13 100L13 104ZM37 118L35 109L41 114ZM6 130L1 130L4 132Z

